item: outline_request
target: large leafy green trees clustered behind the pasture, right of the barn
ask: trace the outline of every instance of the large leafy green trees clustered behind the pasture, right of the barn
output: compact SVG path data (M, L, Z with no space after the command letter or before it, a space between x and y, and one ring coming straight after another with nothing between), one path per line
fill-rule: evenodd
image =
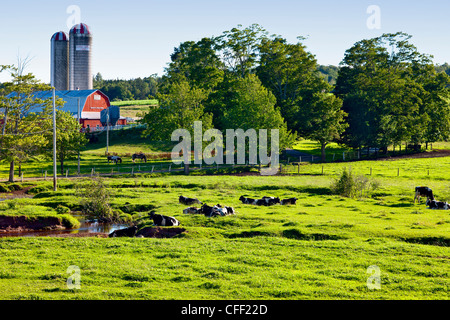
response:
M435 67L402 32L361 40L339 67L318 65L298 42L237 26L174 48L160 79L159 106L145 134L168 140L178 128L279 129L280 146L297 137L355 149L418 145L450 135L449 69ZM448 67L448 66L447 66Z

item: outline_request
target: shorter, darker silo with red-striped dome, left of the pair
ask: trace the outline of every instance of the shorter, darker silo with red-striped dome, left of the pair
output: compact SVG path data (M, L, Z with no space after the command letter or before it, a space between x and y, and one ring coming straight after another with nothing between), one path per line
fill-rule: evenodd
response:
M56 90L69 89L69 37L56 32L51 40L50 84Z

